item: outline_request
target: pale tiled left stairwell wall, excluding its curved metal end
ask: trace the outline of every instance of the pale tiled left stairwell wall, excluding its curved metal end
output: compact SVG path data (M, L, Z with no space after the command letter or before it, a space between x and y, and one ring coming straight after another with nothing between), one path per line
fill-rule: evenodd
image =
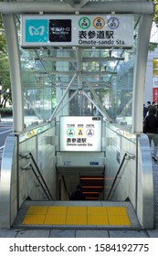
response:
M19 144L19 155L25 155L31 152L37 165L44 177L47 187L54 198L57 197L56 187L56 168L55 168L55 144L52 138L55 137L55 127L48 129L44 133L38 133L36 136L21 142ZM36 176L32 169L24 170L30 159L19 156L19 207L23 204L26 197L32 200L47 199L44 191L39 187Z

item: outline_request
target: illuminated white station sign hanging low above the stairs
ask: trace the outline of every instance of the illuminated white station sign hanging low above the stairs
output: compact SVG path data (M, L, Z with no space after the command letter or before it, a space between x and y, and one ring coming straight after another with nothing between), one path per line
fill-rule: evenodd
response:
M100 116L60 117L60 151L100 150Z

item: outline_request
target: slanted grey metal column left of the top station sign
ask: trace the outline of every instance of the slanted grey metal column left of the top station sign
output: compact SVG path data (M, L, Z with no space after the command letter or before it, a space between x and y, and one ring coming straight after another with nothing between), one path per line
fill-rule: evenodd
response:
M13 115L14 115L14 133L22 133L24 127L24 107L23 91L21 79L21 65L19 48L16 33L16 17L13 15L3 15L5 26L5 37L7 41L7 50L10 65Z

